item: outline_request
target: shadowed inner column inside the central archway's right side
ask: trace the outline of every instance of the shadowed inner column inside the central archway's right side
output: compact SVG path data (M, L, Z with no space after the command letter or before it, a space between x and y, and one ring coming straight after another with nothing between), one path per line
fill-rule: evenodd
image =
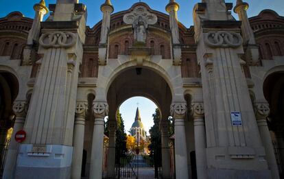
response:
M162 120L160 122L161 142L162 142L162 176L164 179L170 178L169 166L169 121Z

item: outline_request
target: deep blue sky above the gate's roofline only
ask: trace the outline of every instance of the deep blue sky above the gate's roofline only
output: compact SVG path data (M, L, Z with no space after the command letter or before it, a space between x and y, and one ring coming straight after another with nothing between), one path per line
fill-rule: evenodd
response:
M6 16L10 12L20 11L25 16L33 18L34 3L38 3L40 0L0 0L0 16ZM81 0L80 3L84 3L88 10L87 25L93 27L97 22L102 19L102 12L99 10L100 5L105 0ZM150 5L153 10L158 10L164 13L165 6L169 2L168 0L141 0L142 2ZM227 3L234 3L236 0L226 0ZM256 16L263 9L275 10L279 15L284 16L284 0L243 0L250 4L248 9L248 16ZM47 4L56 3L56 0L45 0ZM115 12L121 10L128 10L133 3L137 3L139 0L111 0L115 8ZM180 4L180 10L178 11L178 20L183 23L186 27L193 25L192 9L193 6L201 2L201 0L176 0ZM114 13L115 13L114 12ZM233 14L237 19L237 16ZM45 16L45 19L47 16Z

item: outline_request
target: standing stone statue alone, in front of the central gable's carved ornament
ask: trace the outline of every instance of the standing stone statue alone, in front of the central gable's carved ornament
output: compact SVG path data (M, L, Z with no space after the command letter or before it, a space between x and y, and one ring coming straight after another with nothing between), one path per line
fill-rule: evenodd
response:
M143 21L142 16L139 16L136 23L133 24L134 39L138 43L145 43L146 42L146 27L147 27L147 25Z

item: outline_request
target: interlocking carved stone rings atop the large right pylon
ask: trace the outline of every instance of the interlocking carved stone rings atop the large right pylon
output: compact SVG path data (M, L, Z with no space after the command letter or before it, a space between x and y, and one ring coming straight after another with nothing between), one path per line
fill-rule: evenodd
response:
M237 48L243 44L243 38L235 32L208 32L204 42L213 48Z

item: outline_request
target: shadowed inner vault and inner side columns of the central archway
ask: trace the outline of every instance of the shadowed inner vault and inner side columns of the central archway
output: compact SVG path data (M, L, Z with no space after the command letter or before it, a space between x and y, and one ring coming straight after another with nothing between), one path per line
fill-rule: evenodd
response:
M129 67L115 75L115 79L111 81L107 91L108 102L108 122L115 123L116 112L119 106L126 99L130 97L141 96L146 97L158 106L161 114L160 123L167 123L167 119L170 115L170 105L172 102L172 91L166 80L156 73L156 71L145 67ZM110 136L113 137L113 136ZM109 140L109 146L115 146L111 142L115 140ZM165 144L167 143L167 144ZM162 137L162 145L168 146L168 141ZM168 178L169 176L169 150L163 150L162 152L163 163L163 176ZM115 175L115 150L108 150L108 177L111 178Z

